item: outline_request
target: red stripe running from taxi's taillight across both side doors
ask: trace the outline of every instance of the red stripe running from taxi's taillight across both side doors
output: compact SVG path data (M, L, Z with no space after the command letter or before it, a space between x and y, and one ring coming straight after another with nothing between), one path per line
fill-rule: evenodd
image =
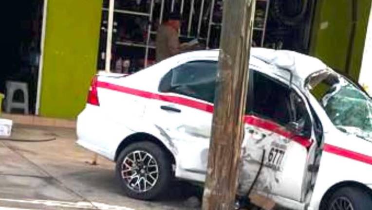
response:
M178 96L167 96L167 95L163 95L163 94L157 94L157 93L152 93L152 92L148 92L148 91L143 91L143 90L138 90L138 89L133 89L133 88L127 88L127 87L114 85L114 84L107 83L107 82L98 82L97 86L99 88L106 88L106 89L115 90L115 91L118 91L118 92L123 92L123 93L131 94L131 95L140 96L140 97L143 97L143 98L156 99L156 100L170 102L170 103L174 103L174 104L178 104L178 105L185 105L185 106L188 106L188 107L192 107L192 108L196 108L196 109L199 109L199 110L202 110L202 111L213 113L213 105L203 103L203 102L199 102L199 101L195 101L195 100L191 100L191 99L186 99L186 98L182 98L182 97L178 97ZM309 148L312 144L311 140L300 137L300 136L295 136L295 135L291 134L290 132L286 131L282 126L280 126L276 123L272 123L268 120L260 119L256 116L246 115L244 117L244 122L248 123L248 124L251 124L251 125L254 125L254 126L257 126L257 127L260 127L260 128L263 128L265 130L272 131L272 132L277 133L277 134L279 134L279 135L281 135L285 138L294 140L294 141L298 142L299 144L301 144L302 146L304 146L306 148Z

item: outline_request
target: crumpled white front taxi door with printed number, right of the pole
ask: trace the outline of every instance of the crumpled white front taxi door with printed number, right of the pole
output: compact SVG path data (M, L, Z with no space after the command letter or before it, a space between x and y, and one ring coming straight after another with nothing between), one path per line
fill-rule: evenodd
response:
M239 191L301 201L316 148L309 106L288 84L255 70L248 91Z

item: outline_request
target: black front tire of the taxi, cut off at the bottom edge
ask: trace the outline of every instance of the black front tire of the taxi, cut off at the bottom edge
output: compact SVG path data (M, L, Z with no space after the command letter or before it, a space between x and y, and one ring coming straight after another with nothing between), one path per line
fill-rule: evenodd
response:
M338 189L335 193L332 194L325 207L321 209L333 210L333 205L335 205L335 203L340 200L343 200L345 205L346 202L350 202L353 210L372 210L371 194L357 187L343 187ZM340 210L343 209L340 208ZM345 210L348 209L345 208Z

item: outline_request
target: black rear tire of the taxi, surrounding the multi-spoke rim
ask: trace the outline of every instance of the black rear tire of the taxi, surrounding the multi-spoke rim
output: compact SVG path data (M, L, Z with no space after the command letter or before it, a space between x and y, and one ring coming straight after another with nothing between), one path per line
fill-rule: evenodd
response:
M130 184L122 176L123 161L134 151L145 151L149 153L156 161L158 166L158 178L154 186L146 192L138 192L130 189ZM116 177L119 180L121 187L126 195L135 199L151 200L158 198L164 192L167 192L168 186L172 181L172 166L170 157L167 153L155 143L149 141L141 141L132 143L120 152L116 161ZM133 187L133 186L132 186Z

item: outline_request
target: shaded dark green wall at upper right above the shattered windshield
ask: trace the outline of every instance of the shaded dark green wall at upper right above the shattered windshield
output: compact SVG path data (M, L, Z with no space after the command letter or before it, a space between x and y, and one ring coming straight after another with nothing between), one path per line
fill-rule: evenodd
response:
M358 17L349 75L359 77L371 0L357 0ZM346 72L346 57L352 28L352 0L318 0L310 54L332 68Z

